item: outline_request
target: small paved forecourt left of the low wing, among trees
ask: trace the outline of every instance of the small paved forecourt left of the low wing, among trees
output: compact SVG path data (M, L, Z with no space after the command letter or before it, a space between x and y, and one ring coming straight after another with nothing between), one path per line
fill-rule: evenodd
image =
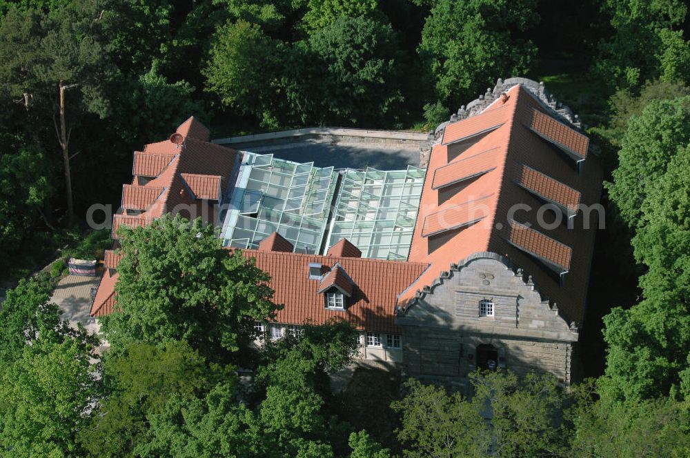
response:
M98 286L101 277L79 277L68 275L60 280L52 292L50 301L62 309L62 319L70 321L70 326L77 328L77 323L89 332L98 332L96 319L89 317L91 309L91 288Z

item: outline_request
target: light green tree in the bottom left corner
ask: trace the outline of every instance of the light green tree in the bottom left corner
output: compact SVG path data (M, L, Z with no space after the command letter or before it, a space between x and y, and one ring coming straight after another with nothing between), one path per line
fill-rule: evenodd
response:
M0 447L14 456L75 456L97 395L92 353L39 338L0 372Z

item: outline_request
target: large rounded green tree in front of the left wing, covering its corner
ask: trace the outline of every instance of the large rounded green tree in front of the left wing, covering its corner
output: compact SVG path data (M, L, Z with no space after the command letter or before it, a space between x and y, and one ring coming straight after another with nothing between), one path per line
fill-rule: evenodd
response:
M112 350L130 342L187 341L211 361L229 361L256 320L273 315L268 276L221 246L213 226L164 215L124 229L117 310L101 320Z

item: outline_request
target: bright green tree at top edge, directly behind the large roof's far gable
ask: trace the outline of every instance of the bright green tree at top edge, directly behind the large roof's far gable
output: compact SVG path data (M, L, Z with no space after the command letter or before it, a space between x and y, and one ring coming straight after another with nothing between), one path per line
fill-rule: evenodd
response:
M436 95L456 107L498 78L525 74L537 49L517 32L539 20L535 0L439 0L422 30L419 52Z

